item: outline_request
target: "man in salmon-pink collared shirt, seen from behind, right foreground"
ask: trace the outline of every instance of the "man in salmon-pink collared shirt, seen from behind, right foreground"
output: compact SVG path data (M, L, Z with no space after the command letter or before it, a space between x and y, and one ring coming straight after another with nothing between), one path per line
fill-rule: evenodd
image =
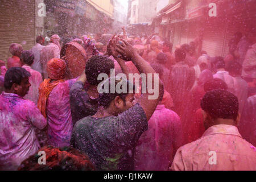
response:
M236 127L240 120L237 97L227 90L212 90L205 94L201 108L206 131L200 139L179 148L171 170L255 171L255 147Z

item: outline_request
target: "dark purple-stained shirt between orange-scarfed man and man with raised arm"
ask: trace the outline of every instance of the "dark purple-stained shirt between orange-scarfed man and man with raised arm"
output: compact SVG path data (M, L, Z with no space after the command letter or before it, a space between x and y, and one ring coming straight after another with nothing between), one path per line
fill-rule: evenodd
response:
M90 98L81 81L77 81L72 85L69 96L73 126L80 119L96 114L96 100Z

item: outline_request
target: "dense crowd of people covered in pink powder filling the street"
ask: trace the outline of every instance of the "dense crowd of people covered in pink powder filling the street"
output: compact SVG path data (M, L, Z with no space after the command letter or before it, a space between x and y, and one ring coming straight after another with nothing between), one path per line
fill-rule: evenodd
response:
M85 70L72 79L60 55L68 42L86 51ZM201 44L174 48L125 28L80 38L48 31L27 51L11 44L13 56L0 62L0 170L256 170L256 32L237 32L225 57ZM112 69L157 74L158 98L142 92L142 79L139 92L115 78L125 92L100 93L98 76L109 76L111 90Z

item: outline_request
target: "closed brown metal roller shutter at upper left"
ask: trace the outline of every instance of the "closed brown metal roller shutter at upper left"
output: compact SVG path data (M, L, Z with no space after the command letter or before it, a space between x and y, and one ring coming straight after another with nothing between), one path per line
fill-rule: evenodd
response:
M24 50L35 44L35 1L0 1L0 60L11 56L11 43L19 43Z

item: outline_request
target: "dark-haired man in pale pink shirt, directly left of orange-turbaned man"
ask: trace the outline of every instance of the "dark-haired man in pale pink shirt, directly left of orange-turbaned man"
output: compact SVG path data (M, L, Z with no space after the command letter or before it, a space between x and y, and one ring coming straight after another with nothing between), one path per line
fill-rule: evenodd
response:
M22 55L20 56L20 61L22 63L22 68L26 69L28 72L30 72L30 90L28 91L28 94L24 96L25 99L30 100L34 102L36 105L38 104L38 98L39 98L39 86L40 83L43 82L43 78L41 73L38 71L35 71L31 68L31 65L34 63L34 55L31 51L23 51Z

